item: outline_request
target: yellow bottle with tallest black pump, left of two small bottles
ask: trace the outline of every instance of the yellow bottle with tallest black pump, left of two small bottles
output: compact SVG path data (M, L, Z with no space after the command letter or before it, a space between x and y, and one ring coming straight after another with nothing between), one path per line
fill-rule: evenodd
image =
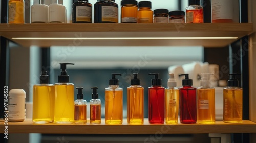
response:
M69 83L69 75L66 71L66 65L73 63L60 63L62 70L58 76L58 83L55 87L55 108L54 122L60 124L74 123L74 84Z

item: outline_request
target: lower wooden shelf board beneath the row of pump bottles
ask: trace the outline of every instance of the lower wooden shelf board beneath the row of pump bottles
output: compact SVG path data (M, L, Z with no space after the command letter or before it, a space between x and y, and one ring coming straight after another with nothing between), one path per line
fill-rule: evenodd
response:
M256 123L243 120L243 123L232 124L217 121L216 124L149 124L145 118L143 125L129 125L126 119L122 125L102 124L33 124L28 119L24 122L0 122L1 131L4 133L8 126L8 133L51 133L51 134L195 134L195 133L256 133Z

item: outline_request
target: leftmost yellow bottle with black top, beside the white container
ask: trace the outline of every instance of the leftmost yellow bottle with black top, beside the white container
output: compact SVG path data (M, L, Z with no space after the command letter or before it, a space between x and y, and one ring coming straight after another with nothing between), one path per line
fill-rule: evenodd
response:
M45 124L54 121L54 85L49 84L46 71L40 75L40 84L33 86L33 123Z

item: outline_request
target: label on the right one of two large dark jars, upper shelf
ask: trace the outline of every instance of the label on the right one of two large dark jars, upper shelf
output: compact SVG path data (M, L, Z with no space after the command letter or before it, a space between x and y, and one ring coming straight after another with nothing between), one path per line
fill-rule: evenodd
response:
M102 6L101 21L118 23L118 8L112 6Z

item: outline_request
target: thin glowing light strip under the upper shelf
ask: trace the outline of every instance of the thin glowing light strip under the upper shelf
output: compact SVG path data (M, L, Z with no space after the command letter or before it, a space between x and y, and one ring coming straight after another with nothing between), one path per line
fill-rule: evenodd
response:
M13 40L203 40L238 39L238 37L14 37Z

